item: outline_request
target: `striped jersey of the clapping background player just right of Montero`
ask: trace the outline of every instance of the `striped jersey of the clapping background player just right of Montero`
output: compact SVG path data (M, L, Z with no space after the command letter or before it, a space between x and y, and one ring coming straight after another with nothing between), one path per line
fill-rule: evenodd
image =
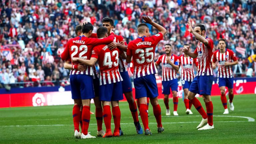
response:
M162 63L162 81L169 81L176 78L176 70L172 67L171 64L166 61L166 54L161 55L156 63L160 65ZM174 65L179 65L179 57L172 54L170 60Z

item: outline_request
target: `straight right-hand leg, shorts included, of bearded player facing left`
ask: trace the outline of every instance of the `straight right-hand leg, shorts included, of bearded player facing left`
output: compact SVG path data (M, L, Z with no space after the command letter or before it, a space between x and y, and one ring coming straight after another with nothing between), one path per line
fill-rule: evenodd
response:
M207 125L198 130L213 129L213 104L211 101L211 89L212 89L213 75L199 76L199 90L203 95L203 99L206 105L207 112Z

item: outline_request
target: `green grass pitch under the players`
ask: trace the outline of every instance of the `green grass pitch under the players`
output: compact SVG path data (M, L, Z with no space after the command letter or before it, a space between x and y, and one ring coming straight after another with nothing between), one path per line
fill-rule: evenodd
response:
M202 97L198 98L204 109ZM73 105L42 106L42 107L17 107L0 109L0 143L1 144L245 144L256 143L256 95L235 95L235 110L228 115L224 112L219 96L212 97L214 106L214 129L198 131L196 126L201 117L192 106L193 115L185 114L185 106L179 99L179 116L165 116L163 100L159 103L162 109L162 122L164 133L157 133L157 124L153 115L152 106L149 106L149 127L151 136L137 135L133 119L127 102L120 102L121 128L124 135L121 137L95 139L75 139L72 119ZM170 108L173 104L170 100ZM229 107L229 106L228 106ZM92 104L91 110L95 111ZM233 117L240 116L240 117ZM245 118L248 117L248 118ZM139 118L140 119L140 118ZM251 122L250 122L250 121ZM253 122L252 122L253 121ZM113 123L113 118L112 118ZM142 125L141 119L140 123ZM112 131L114 125L112 124ZM103 129L105 125L103 122ZM89 126L91 135L96 136L97 125L95 115L91 115Z

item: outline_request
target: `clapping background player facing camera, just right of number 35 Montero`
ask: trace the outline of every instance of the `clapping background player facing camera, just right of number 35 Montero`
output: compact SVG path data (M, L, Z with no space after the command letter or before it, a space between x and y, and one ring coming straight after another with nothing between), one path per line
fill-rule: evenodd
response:
M178 107L178 80L176 78L176 71L179 70L179 57L172 54L172 45L165 44L165 54L161 55L155 65L162 63L162 93L164 94L164 104L166 107L166 115L171 115L169 109L169 94L172 89L173 96L173 115L177 116Z

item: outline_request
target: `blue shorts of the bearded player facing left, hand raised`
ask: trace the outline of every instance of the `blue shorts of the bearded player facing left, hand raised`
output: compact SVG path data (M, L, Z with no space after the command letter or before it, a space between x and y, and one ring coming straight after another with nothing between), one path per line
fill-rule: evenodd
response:
M189 91L200 95L211 95L213 75L196 76L192 81Z

